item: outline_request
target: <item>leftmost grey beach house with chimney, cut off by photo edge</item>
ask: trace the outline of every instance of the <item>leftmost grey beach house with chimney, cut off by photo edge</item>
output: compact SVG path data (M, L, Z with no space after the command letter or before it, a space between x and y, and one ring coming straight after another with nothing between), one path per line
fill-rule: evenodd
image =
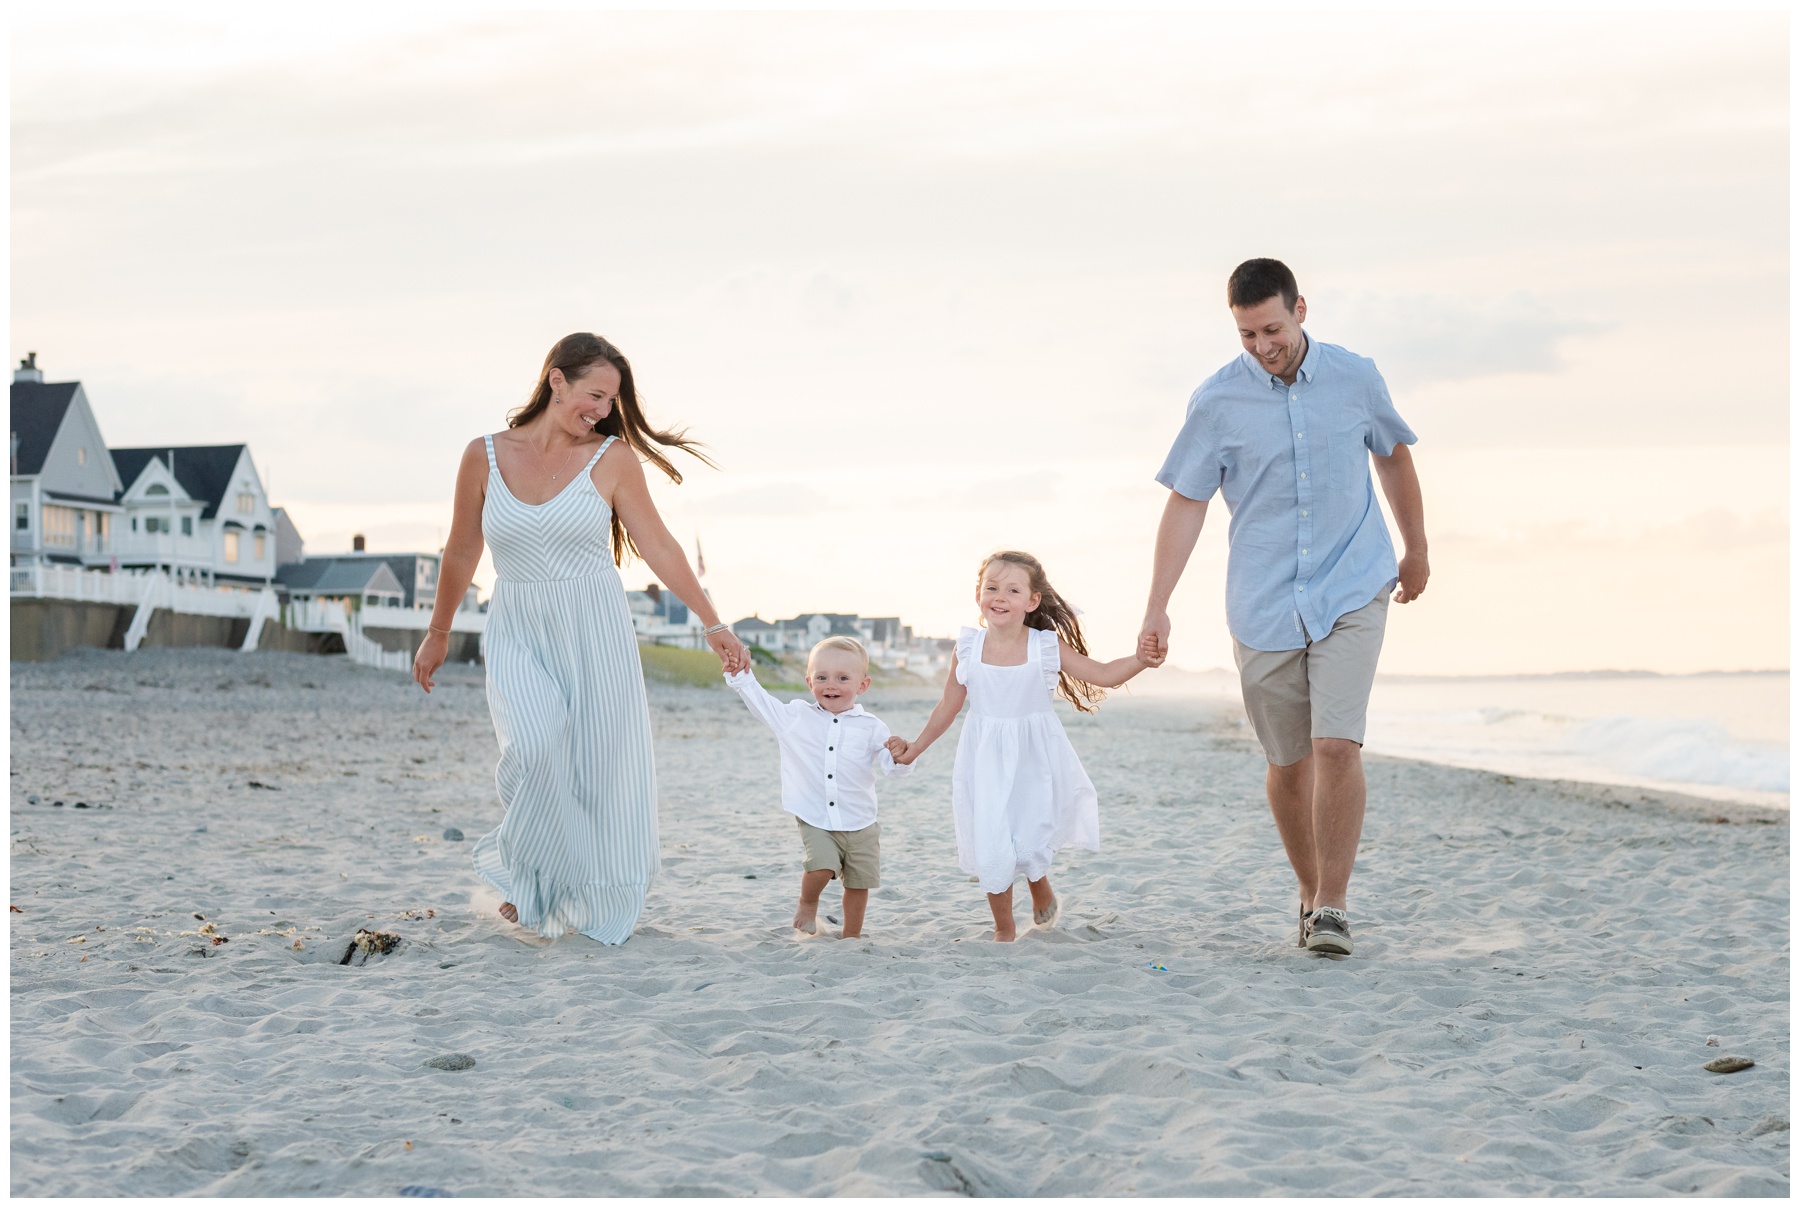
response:
M79 382L13 373L13 565L112 565L122 482Z

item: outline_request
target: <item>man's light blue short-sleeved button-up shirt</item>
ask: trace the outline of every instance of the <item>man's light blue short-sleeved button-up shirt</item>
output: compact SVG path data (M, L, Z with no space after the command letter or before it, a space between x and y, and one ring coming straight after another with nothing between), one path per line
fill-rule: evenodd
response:
M1307 340L1287 385L1249 353L1188 400L1156 481L1231 509L1226 623L1251 650L1300 650L1399 578L1368 454L1418 437L1375 362Z

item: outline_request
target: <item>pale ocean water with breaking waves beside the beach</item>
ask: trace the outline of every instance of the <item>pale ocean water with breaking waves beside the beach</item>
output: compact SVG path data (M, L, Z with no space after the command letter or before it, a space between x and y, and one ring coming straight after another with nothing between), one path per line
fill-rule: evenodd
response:
M1156 691L1165 693L1237 699L1237 675L1177 672ZM1366 749L1786 808L1787 672L1382 675Z

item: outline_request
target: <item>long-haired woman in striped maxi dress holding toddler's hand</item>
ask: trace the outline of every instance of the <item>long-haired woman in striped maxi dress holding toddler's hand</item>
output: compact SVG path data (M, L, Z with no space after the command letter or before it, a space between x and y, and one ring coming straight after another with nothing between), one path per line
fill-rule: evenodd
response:
M625 554L700 618L727 672L749 666L650 500L641 457L680 482L659 445L706 461L680 432L644 423L619 349L576 333L544 358L508 430L470 441L457 470L437 607L412 679L432 690L486 538L497 574L488 709L506 816L472 855L506 900L500 915L542 936L574 929L623 943L657 871L650 709L616 569Z

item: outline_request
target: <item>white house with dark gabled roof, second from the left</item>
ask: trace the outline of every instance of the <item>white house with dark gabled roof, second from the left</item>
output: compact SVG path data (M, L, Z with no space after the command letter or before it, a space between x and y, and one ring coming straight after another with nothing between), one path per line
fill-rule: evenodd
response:
M275 578L275 515L248 445L115 448L121 569L263 587Z

